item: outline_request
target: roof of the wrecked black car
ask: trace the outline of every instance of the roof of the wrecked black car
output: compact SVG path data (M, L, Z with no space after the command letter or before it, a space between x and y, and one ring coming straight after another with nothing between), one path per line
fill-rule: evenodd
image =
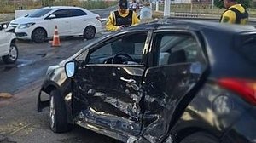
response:
M200 30L214 30L214 31L230 31L230 32L248 32L256 31L254 26L241 26L241 25L230 25L218 22L210 22L202 20L178 20L178 19L160 19L154 20L148 23L143 23L137 26L133 26L132 29L144 29L144 28L154 28L154 29L200 29Z

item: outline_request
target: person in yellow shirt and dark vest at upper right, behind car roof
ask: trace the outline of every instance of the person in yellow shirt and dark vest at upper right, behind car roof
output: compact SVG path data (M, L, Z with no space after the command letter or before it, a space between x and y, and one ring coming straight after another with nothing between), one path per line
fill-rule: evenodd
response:
M247 24L248 12L241 4L237 3L236 0L224 0L224 7L226 10L221 15L221 23Z

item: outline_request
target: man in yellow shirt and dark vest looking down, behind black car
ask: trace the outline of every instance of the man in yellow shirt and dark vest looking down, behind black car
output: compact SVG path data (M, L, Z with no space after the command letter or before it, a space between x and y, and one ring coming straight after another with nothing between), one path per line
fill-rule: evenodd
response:
M106 29L108 31L118 31L125 27L136 25L139 22L136 12L128 9L127 0L119 0L119 9L108 16Z

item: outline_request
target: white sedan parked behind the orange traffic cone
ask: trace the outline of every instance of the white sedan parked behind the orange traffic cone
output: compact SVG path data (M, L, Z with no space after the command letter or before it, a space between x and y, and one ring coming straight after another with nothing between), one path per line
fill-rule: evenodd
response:
M59 36L79 36L85 39L95 37L102 31L100 16L79 7L45 7L37 9L32 14L12 20L9 26L15 27L19 39L32 39L42 43L47 37L53 37L55 26Z

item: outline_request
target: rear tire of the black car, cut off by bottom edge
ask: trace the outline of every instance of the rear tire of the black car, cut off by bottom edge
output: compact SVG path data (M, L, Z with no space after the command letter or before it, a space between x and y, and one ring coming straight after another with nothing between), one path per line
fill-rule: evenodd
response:
M185 137L180 143L218 143L219 141L210 134L198 132Z

